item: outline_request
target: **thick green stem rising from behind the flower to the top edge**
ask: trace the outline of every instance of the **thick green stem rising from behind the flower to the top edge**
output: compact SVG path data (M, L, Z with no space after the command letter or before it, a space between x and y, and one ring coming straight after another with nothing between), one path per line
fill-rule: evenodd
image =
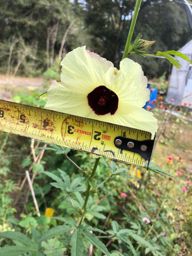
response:
M125 44L125 50L124 50L124 53L123 53L122 60L127 58L127 56L129 55L129 50L130 50L130 45L131 45L131 38L132 38L132 35L133 35L135 23L137 21L137 17L138 17L138 13L139 13L139 8L140 8L140 5L141 5L141 2L142 2L142 0L137 0L137 2L135 4L133 18L132 18L132 21L131 21L131 26L130 26L129 34L127 36L127 41L126 41L126 44Z

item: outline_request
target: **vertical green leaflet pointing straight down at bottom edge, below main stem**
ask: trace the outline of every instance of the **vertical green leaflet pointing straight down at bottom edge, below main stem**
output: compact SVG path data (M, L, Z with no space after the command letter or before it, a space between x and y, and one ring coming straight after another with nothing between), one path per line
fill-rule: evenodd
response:
M70 239L71 256L81 256L83 253L83 237L78 230L75 230Z

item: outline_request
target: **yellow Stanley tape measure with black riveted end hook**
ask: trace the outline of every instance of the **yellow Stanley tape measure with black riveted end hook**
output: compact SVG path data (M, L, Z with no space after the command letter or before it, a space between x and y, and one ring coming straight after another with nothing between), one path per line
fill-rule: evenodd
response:
M154 144L150 132L5 100L0 130L143 167Z

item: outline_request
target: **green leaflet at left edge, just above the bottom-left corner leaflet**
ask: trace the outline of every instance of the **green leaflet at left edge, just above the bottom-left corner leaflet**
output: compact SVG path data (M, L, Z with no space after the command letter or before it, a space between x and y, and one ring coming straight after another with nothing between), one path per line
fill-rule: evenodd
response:
M33 242L26 235L18 231L4 231L0 233L0 236L4 238L10 238L12 240L18 241L22 244L26 244L29 246L33 244Z

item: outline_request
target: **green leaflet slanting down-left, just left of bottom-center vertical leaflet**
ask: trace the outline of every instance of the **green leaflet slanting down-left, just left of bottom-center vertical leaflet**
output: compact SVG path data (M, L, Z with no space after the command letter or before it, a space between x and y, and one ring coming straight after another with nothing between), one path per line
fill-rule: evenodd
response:
M38 239L37 243L41 243L42 241L45 241L47 239L51 239L55 236L62 235L63 233L69 232L70 230L71 228L66 225L56 226L54 228L51 228L45 231L45 233L43 233L43 235Z

